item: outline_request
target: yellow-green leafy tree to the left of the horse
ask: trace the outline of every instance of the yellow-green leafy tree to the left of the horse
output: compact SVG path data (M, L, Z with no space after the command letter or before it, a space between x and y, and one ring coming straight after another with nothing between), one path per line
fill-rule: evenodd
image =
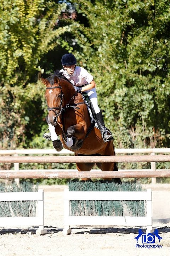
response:
M66 4L64 4L66 5ZM0 2L0 148L27 146L41 131L44 87L39 80L46 54L68 43L58 26L64 6L58 1L2 0ZM70 49L70 47L69 47ZM31 111L30 111L31 110Z

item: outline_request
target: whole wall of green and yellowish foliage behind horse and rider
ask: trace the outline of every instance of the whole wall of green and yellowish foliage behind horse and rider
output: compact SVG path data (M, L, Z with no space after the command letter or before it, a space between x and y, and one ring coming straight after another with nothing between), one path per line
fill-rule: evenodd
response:
M51 148L39 78L66 52L94 76L115 147L169 147L169 25L169 0L2 0L0 149Z

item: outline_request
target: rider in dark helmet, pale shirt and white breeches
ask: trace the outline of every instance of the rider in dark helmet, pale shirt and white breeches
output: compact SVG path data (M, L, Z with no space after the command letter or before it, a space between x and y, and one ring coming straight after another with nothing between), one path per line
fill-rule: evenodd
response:
M95 89L96 84L93 76L89 74L86 69L77 66L77 60L72 53L64 54L61 59L61 63L63 69L60 70L60 73L62 73L73 84L75 91L86 92L86 94L89 96L96 114L96 122L104 142L112 140L113 137L111 133L108 134L108 131L104 125L102 111L98 107L97 93ZM46 136L44 137L46 138Z

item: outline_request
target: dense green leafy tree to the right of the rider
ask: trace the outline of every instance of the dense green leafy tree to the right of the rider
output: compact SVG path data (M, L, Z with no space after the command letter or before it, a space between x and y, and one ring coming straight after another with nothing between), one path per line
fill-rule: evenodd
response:
M70 1L75 55L97 82L118 147L169 145L168 0Z

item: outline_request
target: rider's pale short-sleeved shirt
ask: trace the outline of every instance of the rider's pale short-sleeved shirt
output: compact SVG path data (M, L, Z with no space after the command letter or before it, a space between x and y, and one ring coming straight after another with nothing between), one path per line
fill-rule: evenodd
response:
M72 75L69 75L67 71L63 69L60 70L60 73L63 73L63 75L75 86L89 84L93 80L93 76L89 74L86 69L79 66L75 67Z

